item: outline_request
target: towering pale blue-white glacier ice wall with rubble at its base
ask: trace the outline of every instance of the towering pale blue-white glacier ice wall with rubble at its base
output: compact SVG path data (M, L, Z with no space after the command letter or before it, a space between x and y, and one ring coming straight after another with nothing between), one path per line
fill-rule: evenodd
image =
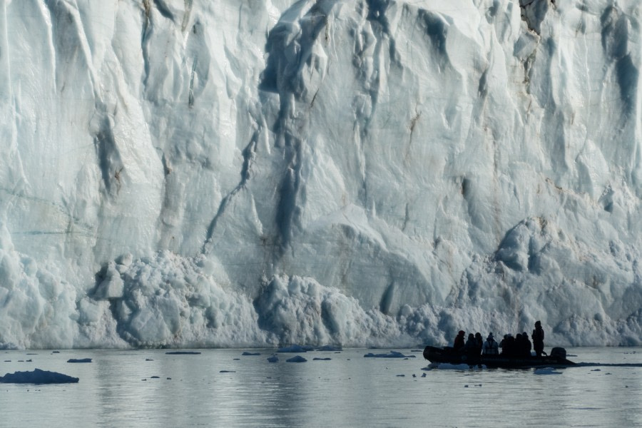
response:
M636 0L7 0L0 347L640 344Z

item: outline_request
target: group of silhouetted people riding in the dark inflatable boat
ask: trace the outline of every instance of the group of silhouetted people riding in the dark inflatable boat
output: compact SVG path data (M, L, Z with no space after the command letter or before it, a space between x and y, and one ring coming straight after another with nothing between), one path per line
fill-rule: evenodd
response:
M544 354L544 330L541 328L541 322L535 323L535 329L531 338L533 343L529 340L529 335L526 332L518 333L515 337L513 335L504 335L504 339L497 343L492 333L484 341L481 334L470 333L468 340L464 337L466 332L459 330L459 334L455 337L453 350L461 352L469 358L477 358L479 355L505 355L506 357L530 357L531 349L535 351L538 357ZM501 348L501 353L499 352Z

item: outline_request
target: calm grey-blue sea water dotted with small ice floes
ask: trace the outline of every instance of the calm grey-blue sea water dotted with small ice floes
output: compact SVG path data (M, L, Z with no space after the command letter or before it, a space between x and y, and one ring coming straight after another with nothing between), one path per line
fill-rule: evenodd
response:
M285 362L295 354L280 354L280 362L269 363L273 350L252 351L261 355L2 351L0 375L37 367L80 382L0 384L0 426L642 426L642 348L568 348L576 362L631 367L572 367L559 374L422 370L428 362L421 352L399 349L416 357L365 358L388 350L351 349L307 352L300 354L308 360L302 363ZM69 358L93 362L71 364Z

